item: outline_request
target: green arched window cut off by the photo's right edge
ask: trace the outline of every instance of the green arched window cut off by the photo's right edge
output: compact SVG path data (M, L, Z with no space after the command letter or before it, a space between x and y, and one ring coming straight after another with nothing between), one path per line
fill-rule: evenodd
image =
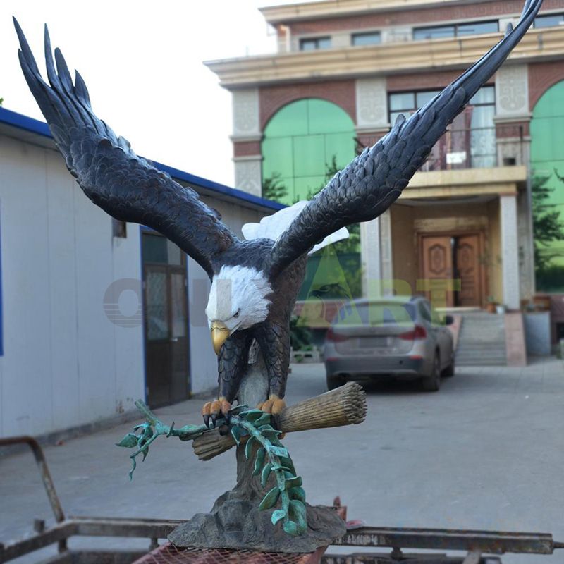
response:
M531 121L537 291L564 291L564 80L539 99Z

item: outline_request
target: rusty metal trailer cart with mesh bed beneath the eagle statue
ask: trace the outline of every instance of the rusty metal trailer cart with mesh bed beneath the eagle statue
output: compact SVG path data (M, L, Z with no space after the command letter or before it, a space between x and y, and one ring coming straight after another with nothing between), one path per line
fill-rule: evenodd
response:
M349 530L335 545L370 548L370 551L350 554L329 554L319 550L314 554L253 553L250 551L176 548L168 542L159 546L159 539L182 521L157 519L127 519L112 517L66 517L47 467L43 450L30 436L0 439L1 446L26 443L35 461L54 513L56 525L46 527L44 520L35 520L35 533L8 544L0 543L0 563L56 544L58 553L41 564L168 564L168 563L324 563L324 564L501 564L493 555L504 553L552 554L563 549L564 543L553 540L551 534L523 532L469 531L455 529L408 529L357 527ZM345 508L341 508L344 513ZM147 550L121 549L71 550L71 537L121 537L148 539ZM124 540L124 544L125 544ZM383 549L391 549L384 551ZM405 549L426 551L460 551L460 556L442 553L408 553Z

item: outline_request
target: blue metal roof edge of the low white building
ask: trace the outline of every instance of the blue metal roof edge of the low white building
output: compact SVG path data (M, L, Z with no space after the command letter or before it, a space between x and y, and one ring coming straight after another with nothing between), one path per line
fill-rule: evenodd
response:
M49 137L52 139L51 131L49 130L49 125L43 121L39 121L29 116L24 116L23 114L18 114L15 111L7 110L6 108L0 108L0 123L5 123L6 125L12 125L15 128L19 128L30 133L36 133L42 137ZM150 160L150 159L149 159ZM217 195L223 195L230 198L235 198L235 200L242 200L254 206L267 208L267 209L283 209L286 207L285 204L280 204L279 202L273 202L272 200L265 200L262 197L243 192L243 190L237 190L237 188L229 188L224 184L219 184L213 180L208 180L207 178L202 178L202 176L196 176L195 174L190 174L185 171L180 171L178 168L173 168L172 166L167 166L166 164L161 164L156 161L152 161L154 166L170 174L173 178L181 180L182 182L188 183L193 186L200 186L205 190L210 192L215 192Z

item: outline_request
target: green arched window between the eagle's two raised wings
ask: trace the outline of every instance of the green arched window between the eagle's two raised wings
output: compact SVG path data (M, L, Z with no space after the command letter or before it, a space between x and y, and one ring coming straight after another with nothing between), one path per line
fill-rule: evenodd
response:
M262 178L286 188L284 204L307 200L326 183L335 157L343 168L355 157L355 124L332 102L318 98L291 102L264 129Z

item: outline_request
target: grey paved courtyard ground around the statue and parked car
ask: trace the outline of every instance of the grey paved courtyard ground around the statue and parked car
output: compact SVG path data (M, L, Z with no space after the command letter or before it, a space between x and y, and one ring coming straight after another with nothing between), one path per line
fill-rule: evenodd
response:
M324 391L321 364L293 367L288 403ZM339 494L349 518L369 525L552 532L564 541L562 361L460 368L439 393L383 383L367 395L359 427L286 437L309 503ZM197 423L201 405L190 400L157 413L177 426ZM67 515L182 519L209 510L233 486L231 453L200 462L189 444L164 438L128 482L128 451L114 443L132 427L46 449ZM0 541L30 532L34 517L52 521L32 456L0 458ZM563 560L503 557L504 564Z

